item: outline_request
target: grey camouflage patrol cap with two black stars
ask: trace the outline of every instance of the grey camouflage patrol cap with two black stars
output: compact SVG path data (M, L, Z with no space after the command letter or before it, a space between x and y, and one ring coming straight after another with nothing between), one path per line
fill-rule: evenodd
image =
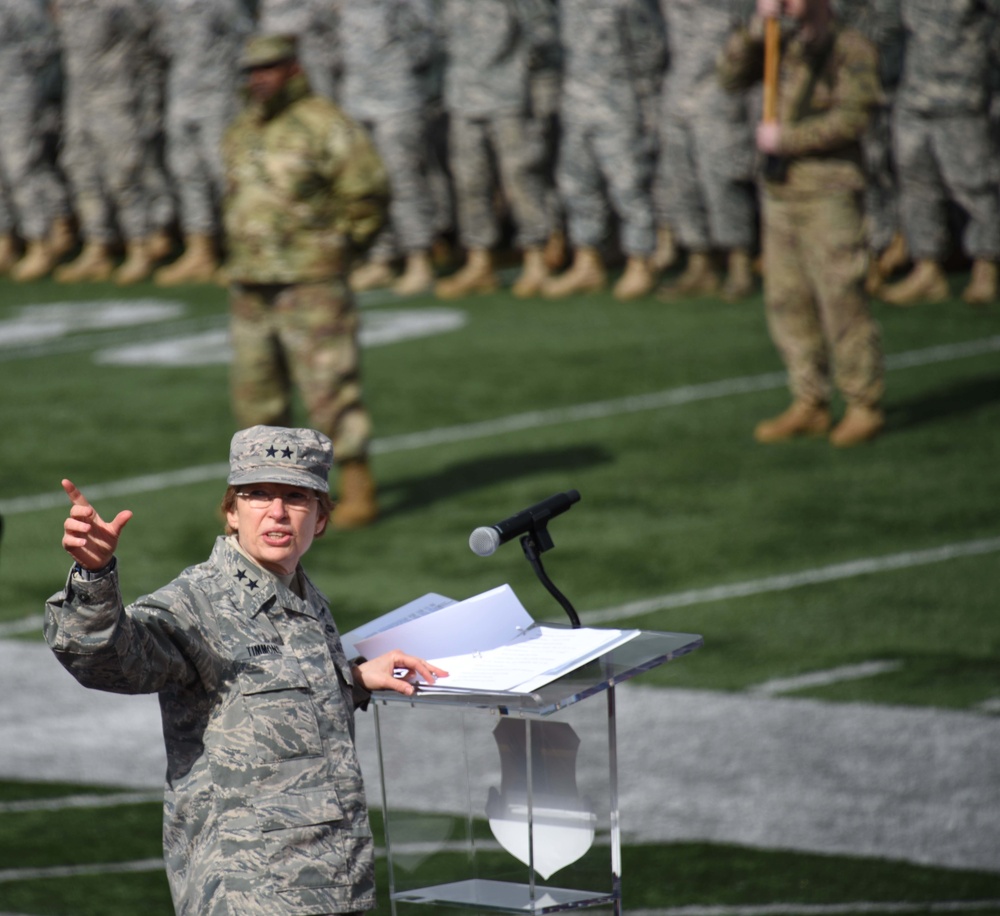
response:
M284 483L329 493L332 466L333 443L314 429L251 426L229 445L227 482Z

